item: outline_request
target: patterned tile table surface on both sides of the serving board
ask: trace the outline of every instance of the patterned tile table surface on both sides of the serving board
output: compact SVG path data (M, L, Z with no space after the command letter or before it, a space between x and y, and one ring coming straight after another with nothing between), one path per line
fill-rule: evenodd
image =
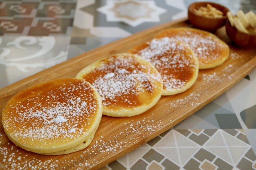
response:
M195 0L193 0L195 1ZM0 1L0 88L132 33L186 17L192 0ZM215 0L256 13L256 0ZM256 70L101 170L256 170ZM2 152L6 156L8 153Z

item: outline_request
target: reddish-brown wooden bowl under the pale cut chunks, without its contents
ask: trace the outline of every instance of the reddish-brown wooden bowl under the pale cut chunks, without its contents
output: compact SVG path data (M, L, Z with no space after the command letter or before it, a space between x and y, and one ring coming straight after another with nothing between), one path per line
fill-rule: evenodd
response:
M238 46L256 48L256 35L239 31L236 27L231 26L229 20L226 23L226 33L229 39Z

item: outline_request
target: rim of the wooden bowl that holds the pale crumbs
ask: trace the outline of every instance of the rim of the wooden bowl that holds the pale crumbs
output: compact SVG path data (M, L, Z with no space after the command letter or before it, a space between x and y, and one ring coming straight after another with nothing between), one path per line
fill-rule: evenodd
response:
M214 5L218 6L218 7L223 7L224 9L227 10L227 12L230 11L229 8L225 7L225 6L222 5L222 4L218 4L218 3L215 3L215 2L209 2L209 1L193 2L193 3L191 3L191 4L189 5L188 11L191 12L191 13L193 13L194 15L196 15L195 12L194 12L194 10L193 10L193 9L195 9L195 8L192 8L192 7L193 7L195 4L199 4L199 3L202 3L202 4L214 4ZM220 9L217 8L217 7L215 7L215 8L218 9L218 10L220 10ZM224 13L222 10L220 10L220 11L224 14L223 17L221 17L221 18L209 18L209 17L205 17L205 16L200 16L200 15L196 15L196 16L197 16L197 17L200 17L200 18L209 19L209 20L223 20L223 19L227 19L227 12Z

